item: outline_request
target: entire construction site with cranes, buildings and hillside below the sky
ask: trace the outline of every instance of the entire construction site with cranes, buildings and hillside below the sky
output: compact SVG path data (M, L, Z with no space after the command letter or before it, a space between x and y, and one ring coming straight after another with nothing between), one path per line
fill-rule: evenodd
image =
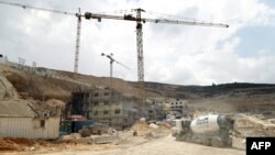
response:
M228 24L143 18L146 11L141 8L132 10L135 15L117 15L0 4L77 19L72 71L28 65L21 57L10 60L9 52L0 52L0 154L244 155L246 137L275 137L275 84L144 80L145 23L218 29ZM132 67L112 53L100 55L109 63L108 76L79 73L81 21L102 19L135 23L136 81L114 77L114 65Z

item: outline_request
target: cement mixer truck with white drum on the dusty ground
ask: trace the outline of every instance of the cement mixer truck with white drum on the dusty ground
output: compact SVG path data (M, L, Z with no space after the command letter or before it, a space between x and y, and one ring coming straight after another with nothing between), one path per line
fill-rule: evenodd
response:
M215 147L231 147L233 120L229 115L208 114L197 119L175 119L172 135L176 141L191 142Z

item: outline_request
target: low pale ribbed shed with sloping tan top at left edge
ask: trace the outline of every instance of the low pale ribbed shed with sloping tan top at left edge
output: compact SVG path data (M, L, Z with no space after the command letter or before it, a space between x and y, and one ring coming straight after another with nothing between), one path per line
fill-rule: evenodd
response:
M28 101L0 101L0 137L57 139L59 112L34 109Z

